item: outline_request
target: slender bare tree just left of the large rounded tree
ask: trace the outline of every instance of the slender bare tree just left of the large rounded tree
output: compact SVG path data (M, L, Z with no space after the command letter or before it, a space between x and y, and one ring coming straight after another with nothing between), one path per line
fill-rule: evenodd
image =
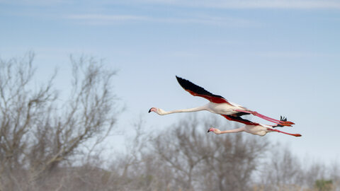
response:
M142 118L132 125L130 132L135 134L132 137L125 137L125 153L116 155L111 164L114 190L149 190L152 188L149 173L145 174L149 171L149 163L154 162L148 149L152 134L145 132L144 125Z

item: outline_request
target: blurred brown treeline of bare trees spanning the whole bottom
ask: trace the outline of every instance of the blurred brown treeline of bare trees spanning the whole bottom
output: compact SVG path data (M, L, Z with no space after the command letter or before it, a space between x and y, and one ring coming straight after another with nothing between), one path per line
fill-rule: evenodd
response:
M307 163L266 137L207 134L234 124L215 117L183 115L152 130L140 120L125 127L134 133L125 151L103 161L100 144L120 111L115 72L72 59L72 91L62 103L55 75L32 88L33 57L0 59L0 190L340 189L338 163Z

